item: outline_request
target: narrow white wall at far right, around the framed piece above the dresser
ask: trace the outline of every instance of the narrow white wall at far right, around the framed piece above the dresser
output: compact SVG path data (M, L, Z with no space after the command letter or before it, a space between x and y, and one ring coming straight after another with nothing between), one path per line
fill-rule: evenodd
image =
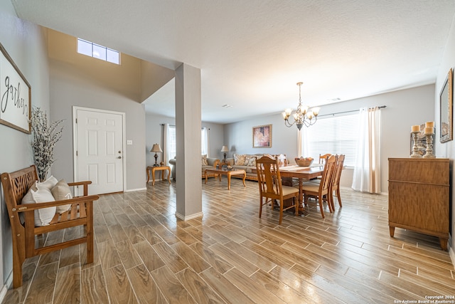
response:
M449 38L447 40L446 49L444 50L444 56L442 57L441 65L439 67L437 80L436 80L436 90L434 92L434 121L437 129L436 133L436 142L435 142L435 149L437 152L438 157L447 157L451 159L451 193L453 193L453 189L455 186L455 176L454 176L454 158L455 158L455 142L451 140L450 142L439 142L439 137L441 133L439 132L439 125L441 123L439 117L439 93L441 92L442 85L444 84L447 73L449 73L450 68L454 68L455 65L455 17L452 21L452 27L450 30ZM452 91L452 94L453 91ZM452 110L453 114L453 110ZM455 122L455 120L454 120ZM455 135L455 134L454 134ZM451 256L452 263L455 266L455 196L451 195L451 202L450 202L450 212L451 212L451 237L449 239L449 252Z

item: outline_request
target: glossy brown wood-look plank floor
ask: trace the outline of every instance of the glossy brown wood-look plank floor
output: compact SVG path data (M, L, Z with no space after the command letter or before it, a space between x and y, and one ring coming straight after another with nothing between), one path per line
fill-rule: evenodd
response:
M331 214L325 206L326 219L311 201L304 216L285 213L279 226L270 206L258 218L256 182L243 187L232 179L227 190L226 179L210 179L202 187L204 216L190 221L174 215L175 182L102 196L94 263L85 264L85 245L28 259L23 286L3 303L417 303L455 296L454 266L437 238L405 229L390 238L387 196L342 189L343 208L336 201Z

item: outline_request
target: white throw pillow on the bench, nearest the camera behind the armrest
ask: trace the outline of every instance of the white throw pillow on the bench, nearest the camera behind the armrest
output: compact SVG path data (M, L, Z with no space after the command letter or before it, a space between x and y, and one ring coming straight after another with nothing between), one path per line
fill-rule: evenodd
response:
M23 196L22 204L45 203L47 201L55 201L50 189L47 187L31 187ZM35 226L47 226L55 215L56 207L48 207L35 210ZM21 221L24 222L23 213L21 213Z

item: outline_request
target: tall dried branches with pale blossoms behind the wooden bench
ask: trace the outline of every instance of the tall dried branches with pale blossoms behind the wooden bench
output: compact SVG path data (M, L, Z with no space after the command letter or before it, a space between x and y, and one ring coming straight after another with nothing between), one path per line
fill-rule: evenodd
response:
M31 130L33 133L33 158L35 159L36 171L41 182L45 181L49 169L55 162L55 144L62 137L63 120L48 122L48 115L41 108L33 108L31 111Z

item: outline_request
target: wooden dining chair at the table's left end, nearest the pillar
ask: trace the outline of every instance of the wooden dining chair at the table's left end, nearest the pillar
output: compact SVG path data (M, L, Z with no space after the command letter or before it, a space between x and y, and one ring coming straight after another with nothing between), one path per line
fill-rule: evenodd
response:
M279 224L282 224L283 211L294 208L295 214L299 215L299 189L282 185L279 174L278 157L272 159L263 156L256 159L257 184L259 184L259 219L262 216L262 206L274 201L279 201ZM284 200L292 198L292 204L284 208Z

